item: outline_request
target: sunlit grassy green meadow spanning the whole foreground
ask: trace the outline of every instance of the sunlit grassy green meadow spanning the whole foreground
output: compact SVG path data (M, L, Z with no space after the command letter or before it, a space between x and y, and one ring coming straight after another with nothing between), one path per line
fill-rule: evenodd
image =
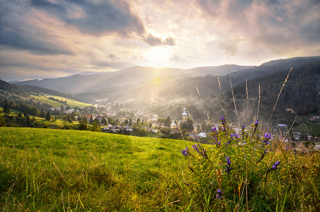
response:
M203 145L209 158L220 158L206 163L196 151L198 156L183 156L180 151L194 143L182 140L9 127L0 128L0 135L2 211L320 210L319 151L298 154L274 141L263 162L252 160L246 168L242 146L232 145L228 174L218 162L226 155L215 145ZM246 149L251 154L253 148ZM263 171L277 160L278 170ZM215 175L210 164L221 172ZM221 200L217 185L224 191Z

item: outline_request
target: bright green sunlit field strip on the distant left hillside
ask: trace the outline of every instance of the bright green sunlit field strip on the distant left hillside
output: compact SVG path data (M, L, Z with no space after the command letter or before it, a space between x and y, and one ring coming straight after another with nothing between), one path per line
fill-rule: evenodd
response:
M33 96L38 101L50 104L50 105L52 105L54 107L60 107L61 105L65 105L65 103L58 102L58 101L55 101L55 100L52 100L52 99L48 99L48 97L53 97L55 99L66 101L67 105L69 105L70 107L86 107L86 106L90 106L91 105L91 104L79 102L79 101L74 100L74 99L65 98L65 97L61 97L61 96L55 96L55 95L51 95L51 94L47 94L47 93L44 93L43 95L44 96L37 96L37 95L31 95L31 96Z

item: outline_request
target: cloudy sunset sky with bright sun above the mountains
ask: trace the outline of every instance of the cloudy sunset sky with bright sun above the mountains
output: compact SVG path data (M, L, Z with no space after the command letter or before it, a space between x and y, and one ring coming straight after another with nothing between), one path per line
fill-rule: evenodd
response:
M320 56L319 0L0 0L0 79ZM228 57L227 57L228 50Z

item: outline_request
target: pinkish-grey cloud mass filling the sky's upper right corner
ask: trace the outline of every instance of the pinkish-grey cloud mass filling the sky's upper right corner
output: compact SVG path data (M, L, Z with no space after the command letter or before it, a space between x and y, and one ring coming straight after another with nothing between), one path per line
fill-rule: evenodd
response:
M277 55L290 55L294 49L307 52L319 45L320 2L316 0L196 0L196 5L222 40L218 47L228 45L232 55L237 54L240 41L262 44ZM316 46L313 49L319 52Z

